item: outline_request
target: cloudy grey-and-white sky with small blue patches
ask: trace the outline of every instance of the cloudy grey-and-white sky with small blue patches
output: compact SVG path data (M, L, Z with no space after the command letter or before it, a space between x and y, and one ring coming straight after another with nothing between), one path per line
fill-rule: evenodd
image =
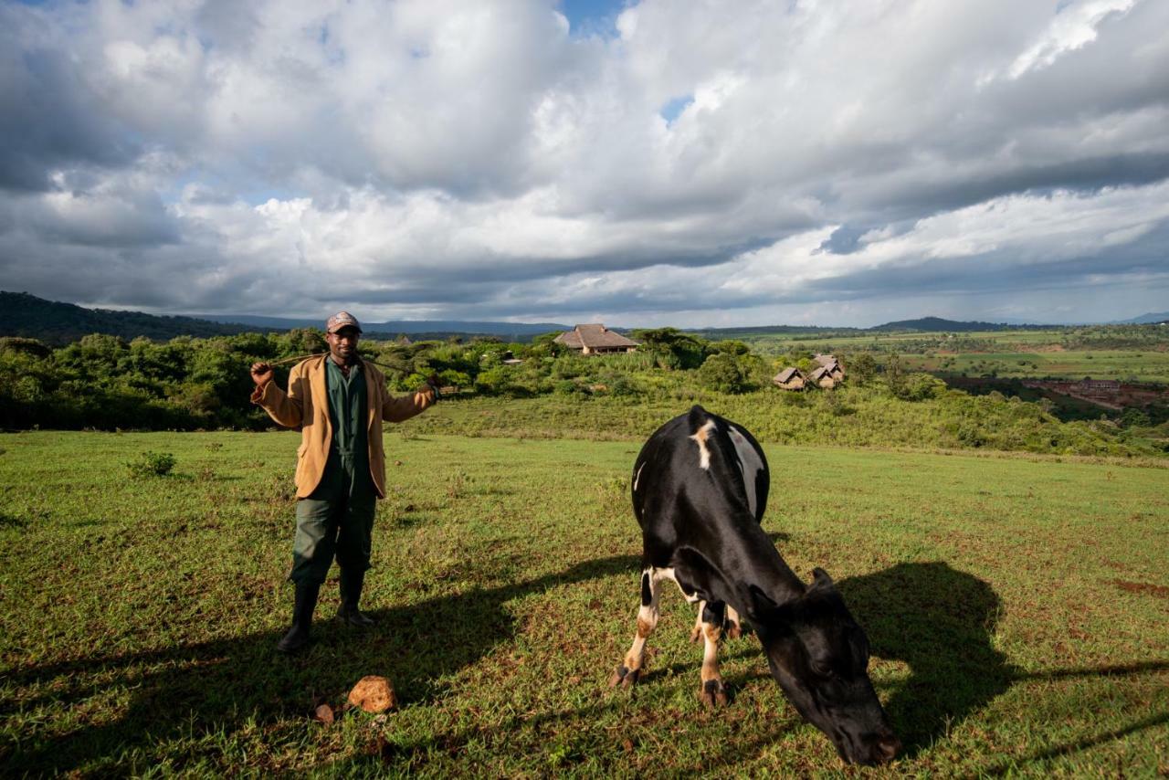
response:
M0 0L0 289L155 313L1169 310L1163 0Z

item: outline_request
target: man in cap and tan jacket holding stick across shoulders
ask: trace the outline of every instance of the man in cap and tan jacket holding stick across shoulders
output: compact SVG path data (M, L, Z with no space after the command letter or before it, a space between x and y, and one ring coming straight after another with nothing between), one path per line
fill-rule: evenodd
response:
M381 423L408 420L438 400L434 378L413 395L392 398L381 372L358 357L360 334L361 325L347 311L330 317L325 324L328 354L298 363L289 374L288 393L272 381L269 364L251 366L253 403L279 424L300 429L289 575L296 584L296 603L292 627L276 646L281 653L295 653L309 643L317 594L334 553L341 571L337 619L359 628L373 623L358 602L369 568L376 499L386 497Z

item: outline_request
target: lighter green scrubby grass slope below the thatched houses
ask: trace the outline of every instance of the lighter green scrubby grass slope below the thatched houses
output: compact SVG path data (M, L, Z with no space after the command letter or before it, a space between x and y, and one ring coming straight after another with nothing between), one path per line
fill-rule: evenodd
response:
M782 444L885 447L915 450L998 449L1032 453L1155 457L1169 465L1167 426L1121 432L1113 423L1061 423L1028 403L947 393L900 401L872 388L786 393L765 388L741 395L679 389L660 395L534 399L466 398L411 421L424 434L644 441L677 409L703 403L745 424L762 441ZM1140 433L1140 435L1133 435Z

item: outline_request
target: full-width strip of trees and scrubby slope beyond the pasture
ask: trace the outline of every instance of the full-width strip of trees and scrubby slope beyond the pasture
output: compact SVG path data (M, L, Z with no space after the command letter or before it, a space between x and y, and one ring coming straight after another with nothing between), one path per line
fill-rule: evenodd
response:
M437 374L461 395L472 396L610 398L621 408L676 408L717 398L720 408L758 417L760 434L774 441L822 436L828 428L833 436L859 436L857 441L870 435L899 441L920 437L913 433L921 427L918 419L935 415L938 446L1105 451L1106 440L1164 422L1163 415L1130 413L1111 428L1084 427L1072 441L1072 429L1052 427L1058 421L1040 405L1008 405L1001 396L988 401L949 389L931 374L909 371L895 353L838 353L849 372L844 391L790 393L775 389L772 377L789 365L811 371L811 350L765 359L740 340L653 329L632 333L642 344L635 353L586 358L556 344L556 336L530 344L490 337L466 343L364 340L360 350L395 392L411 391ZM325 351L324 334L316 329L168 341L92 334L55 348L28 338L0 338L0 427L265 428L268 416L249 400L250 364ZM277 381L286 381L292 365L277 370ZM904 402L922 409L911 414ZM898 420L918 422L902 432Z

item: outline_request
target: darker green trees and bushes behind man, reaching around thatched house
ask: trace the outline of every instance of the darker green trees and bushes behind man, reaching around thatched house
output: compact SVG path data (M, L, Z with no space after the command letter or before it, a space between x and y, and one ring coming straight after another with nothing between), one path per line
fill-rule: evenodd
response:
M690 386L738 394L770 386L776 365L808 364L810 352L768 361L739 340L711 341L675 329L635 331L632 354L584 358L555 343L556 333L528 344L477 338L447 341L361 343L392 389L419 387L429 374L480 395L527 398L660 396ZM258 428L267 416L249 401L254 360L282 360L326 351L316 329L243 333L168 341L91 334L61 347L29 338L0 338L0 426L5 428ZM291 364L278 370L285 381ZM859 384L876 374L858 357ZM894 385L915 388L894 366ZM919 389L907 391L906 396Z

